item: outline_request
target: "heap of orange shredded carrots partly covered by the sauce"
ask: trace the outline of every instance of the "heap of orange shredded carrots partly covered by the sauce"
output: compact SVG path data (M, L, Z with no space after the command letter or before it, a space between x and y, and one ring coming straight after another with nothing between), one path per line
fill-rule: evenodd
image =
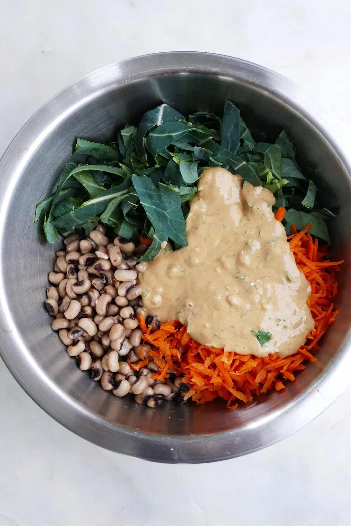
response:
M279 207L276 219L282 220L285 211L284 207ZM339 270L338 266L343 261L332 262L328 259L327 246L319 247L318 240L313 240L307 233L310 227L307 225L297 232L295 225L292 225L294 233L288 236L296 265L309 281L312 291L307 306L315 327L307 336L305 345L285 358L280 358L278 353L263 358L238 355L201 345L188 335L186 327L177 320L168 321L151 332L151 326L146 327L144 318L139 316L143 340L151 346L148 355L159 368L152 378L164 382L170 373L175 373L190 386L184 400L192 398L197 404L203 404L219 397L227 402L229 409L234 409L238 400L250 403L253 395L258 396L272 389L284 390L284 382L294 381L294 373L305 369L302 362L316 361L313 353L318 350L320 338L334 323L338 313L334 303L338 290L335 271ZM133 370L139 370L147 363L146 358L129 365Z

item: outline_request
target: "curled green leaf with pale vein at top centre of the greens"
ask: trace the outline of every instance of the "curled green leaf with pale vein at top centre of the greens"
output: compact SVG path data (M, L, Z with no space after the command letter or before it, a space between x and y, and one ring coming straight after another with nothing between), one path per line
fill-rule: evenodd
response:
M142 117L135 136L135 150L139 159L145 163L147 161L144 140L149 130L155 126L161 126L164 123L171 123L183 118L184 116L182 114L171 108L171 106L168 106L168 104L161 104L157 106L157 108L146 112ZM168 146L168 144L166 146ZM165 148L165 146L163 148ZM153 157L155 157L155 155Z

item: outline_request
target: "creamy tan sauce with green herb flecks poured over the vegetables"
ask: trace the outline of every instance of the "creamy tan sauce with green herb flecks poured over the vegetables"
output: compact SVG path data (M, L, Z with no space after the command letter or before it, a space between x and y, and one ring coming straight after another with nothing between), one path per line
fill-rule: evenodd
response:
M167 245L138 278L143 306L178 319L204 345L239 354L288 356L314 321L310 286L296 267L273 194L240 176L205 168L186 220L188 246ZM261 345L252 331L268 332Z

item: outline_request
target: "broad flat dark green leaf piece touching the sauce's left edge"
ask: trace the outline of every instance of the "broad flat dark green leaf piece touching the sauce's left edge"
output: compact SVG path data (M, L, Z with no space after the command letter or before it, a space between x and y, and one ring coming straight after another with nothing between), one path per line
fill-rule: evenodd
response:
M155 232L160 232L165 241L170 238L185 247L187 240L179 190L161 183L157 190L153 182L143 175L134 175L132 180Z

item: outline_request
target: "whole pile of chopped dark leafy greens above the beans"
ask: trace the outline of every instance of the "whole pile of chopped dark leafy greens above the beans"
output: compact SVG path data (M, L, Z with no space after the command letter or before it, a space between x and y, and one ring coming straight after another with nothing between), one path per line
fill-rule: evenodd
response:
M161 104L137 127L126 124L108 144L78 138L55 193L36 205L35 221L43 221L49 243L77 228L88 235L98 221L115 235L151 237L140 259L147 261L162 241L175 249L187 245L188 202L202 169L219 166L272 191L273 211L287 209L288 234L293 224L299 229L310 223L310 233L329 242L325 221L335 216L318 206L315 181L303 175L286 131L274 144L264 140L265 134L250 130L229 100L221 117L208 112L186 117ZM318 171L308 170L318 178Z

